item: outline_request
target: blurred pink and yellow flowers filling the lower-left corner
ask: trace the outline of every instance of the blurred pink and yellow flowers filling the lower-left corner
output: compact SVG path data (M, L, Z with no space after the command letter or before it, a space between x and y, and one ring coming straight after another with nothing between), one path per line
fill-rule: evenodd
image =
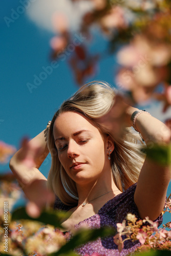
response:
M4 251L4 243L7 240L10 255L46 255L59 250L67 242L67 235L64 236L59 229L51 225L45 226L37 221L19 220L15 222L11 220L12 207L22 196L22 190L13 179L13 175L10 174L1 177L0 251ZM4 202L8 202L8 238L4 235L4 227L7 226Z

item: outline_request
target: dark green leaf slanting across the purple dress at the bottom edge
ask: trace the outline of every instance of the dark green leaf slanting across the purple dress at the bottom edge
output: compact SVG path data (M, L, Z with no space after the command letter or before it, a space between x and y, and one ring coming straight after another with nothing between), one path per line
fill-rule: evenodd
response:
M89 241L96 240L99 237L115 236L116 229L114 228L100 228L100 229L79 229L74 237L57 252L50 254L51 256L70 255L76 247L85 244ZM72 254L71 254L72 255Z

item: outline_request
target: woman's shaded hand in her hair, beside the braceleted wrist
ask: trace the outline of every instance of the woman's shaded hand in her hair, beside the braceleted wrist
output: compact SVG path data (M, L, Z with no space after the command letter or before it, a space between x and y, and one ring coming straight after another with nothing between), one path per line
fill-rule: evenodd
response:
M122 135L124 127L133 125L131 116L136 110L138 109L127 104L122 96L116 95L110 111L101 118L97 118L96 122L116 138Z

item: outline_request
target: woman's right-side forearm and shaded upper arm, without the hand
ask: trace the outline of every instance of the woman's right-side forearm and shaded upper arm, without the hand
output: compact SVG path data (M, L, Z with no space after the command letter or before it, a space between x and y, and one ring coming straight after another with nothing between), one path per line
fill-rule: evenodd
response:
M130 118L135 110L137 109L132 107L127 110ZM170 142L168 127L145 112L136 118L136 127L149 148L153 148L155 143ZM170 178L169 166L162 166L148 158L145 159L134 196L141 218L148 216L151 220L156 220L159 217L165 204Z

